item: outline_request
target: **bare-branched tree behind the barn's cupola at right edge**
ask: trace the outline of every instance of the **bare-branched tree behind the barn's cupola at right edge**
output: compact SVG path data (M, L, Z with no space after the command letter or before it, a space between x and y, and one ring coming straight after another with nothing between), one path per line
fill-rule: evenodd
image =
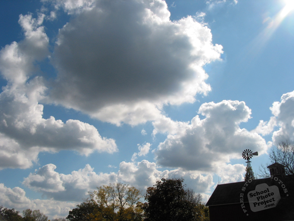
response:
M270 164L279 163L285 166L285 174L294 174L294 146L286 142L279 143L276 149L272 149L269 153ZM259 168L259 177L269 177L268 169L266 166L261 165Z

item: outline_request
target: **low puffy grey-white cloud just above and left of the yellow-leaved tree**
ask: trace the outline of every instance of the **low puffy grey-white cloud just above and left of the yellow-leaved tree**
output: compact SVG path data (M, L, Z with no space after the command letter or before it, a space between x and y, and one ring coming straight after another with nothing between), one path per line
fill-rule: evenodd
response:
M96 174L88 164L71 174L60 174L55 169L54 164L47 164L36 173L31 173L23 184L49 199L79 202L87 198L87 192L93 191L97 186L117 181L115 173Z

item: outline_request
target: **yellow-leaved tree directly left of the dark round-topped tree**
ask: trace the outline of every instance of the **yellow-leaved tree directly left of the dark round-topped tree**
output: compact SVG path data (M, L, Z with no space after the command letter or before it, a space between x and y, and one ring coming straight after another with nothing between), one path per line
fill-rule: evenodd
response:
M141 203L138 201L141 194L133 186L122 183L104 185L89 192L89 196L85 202L69 212L67 219L71 221L142 220Z

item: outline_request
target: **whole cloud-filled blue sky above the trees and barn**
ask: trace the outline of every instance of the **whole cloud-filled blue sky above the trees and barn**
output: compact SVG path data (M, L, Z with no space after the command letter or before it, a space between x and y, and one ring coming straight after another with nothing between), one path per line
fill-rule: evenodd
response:
M208 200L294 143L291 1L1 1L0 204L65 217L96 186Z

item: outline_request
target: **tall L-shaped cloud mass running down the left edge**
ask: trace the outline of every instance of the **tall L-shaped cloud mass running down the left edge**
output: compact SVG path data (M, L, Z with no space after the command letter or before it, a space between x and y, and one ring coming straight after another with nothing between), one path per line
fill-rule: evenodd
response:
M0 94L0 169L28 168L40 151L74 150L83 155L93 151L117 151L113 139L102 138L97 129L78 120L63 123L43 119L47 87L42 77L33 76L34 62L48 56L48 37L42 27L44 16L20 16L25 39L0 51L0 72L8 81Z

